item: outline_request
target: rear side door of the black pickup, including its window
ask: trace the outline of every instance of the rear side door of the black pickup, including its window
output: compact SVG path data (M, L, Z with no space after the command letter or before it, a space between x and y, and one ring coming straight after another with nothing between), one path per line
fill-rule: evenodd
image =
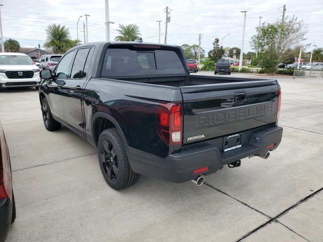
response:
M63 106L65 122L81 136L84 135L85 120L83 118L83 86L88 76L93 48L77 50L72 65L71 76L65 82L63 89ZM84 135L85 136L85 135Z

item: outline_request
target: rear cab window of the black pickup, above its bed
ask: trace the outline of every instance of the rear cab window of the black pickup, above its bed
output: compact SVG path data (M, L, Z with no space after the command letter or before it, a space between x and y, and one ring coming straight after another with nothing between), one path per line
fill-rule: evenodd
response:
M181 59L172 50L141 51L108 48L102 77L185 74Z

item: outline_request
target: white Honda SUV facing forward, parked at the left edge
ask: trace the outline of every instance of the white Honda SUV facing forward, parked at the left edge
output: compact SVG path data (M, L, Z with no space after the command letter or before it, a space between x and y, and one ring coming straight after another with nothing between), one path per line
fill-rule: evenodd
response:
M35 87L40 69L27 54L0 53L0 92L8 87Z

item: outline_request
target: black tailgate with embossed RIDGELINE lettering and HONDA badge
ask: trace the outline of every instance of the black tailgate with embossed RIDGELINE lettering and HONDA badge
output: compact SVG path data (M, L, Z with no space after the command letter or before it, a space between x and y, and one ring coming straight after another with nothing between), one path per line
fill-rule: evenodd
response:
M180 87L183 144L237 134L276 122L276 80Z

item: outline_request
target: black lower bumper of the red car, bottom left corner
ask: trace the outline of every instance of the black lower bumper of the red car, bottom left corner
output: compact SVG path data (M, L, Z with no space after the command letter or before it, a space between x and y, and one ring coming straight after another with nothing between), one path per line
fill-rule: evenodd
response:
M11 224L12 203L9 198L0 199L0 242L7 238Z

